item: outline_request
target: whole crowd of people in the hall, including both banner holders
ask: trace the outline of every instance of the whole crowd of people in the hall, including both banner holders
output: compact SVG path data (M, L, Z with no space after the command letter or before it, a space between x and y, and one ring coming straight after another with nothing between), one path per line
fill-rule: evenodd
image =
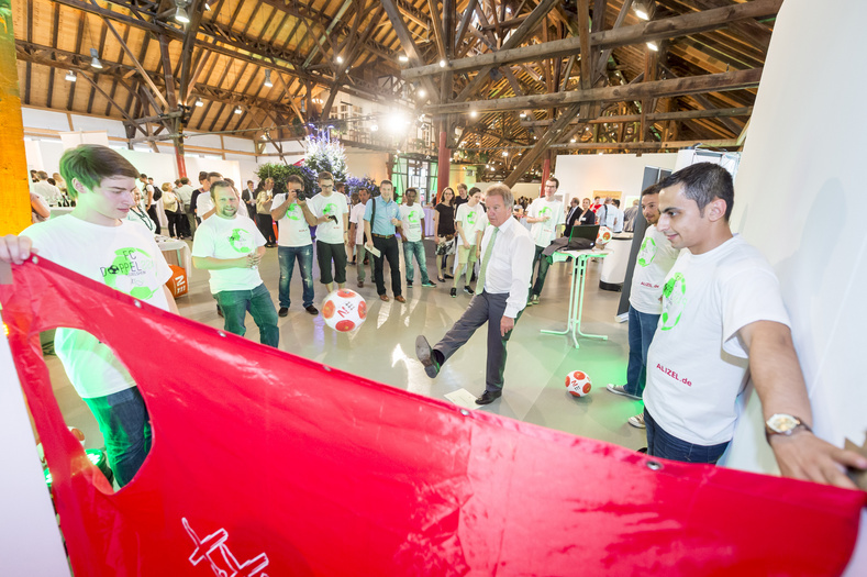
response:
M66 151L60 174L68 197L76 201L73 212L33 224L20 236L3 237L0 259L21 264L35 248L109 286L121 286L114 276L122 274L129 277L122 286L131 295L178 314L165 286L170 270L154 237L158 223L149 209L157 190L151 179L116 152L97 145ZM418 210L414 189L408 189L404 202L398 204L392 184L384 180L380 196L365 199L366 195L359 195L351 212L329 173L319 175L320 192L312 198L307 198L299 177L289 177L286 192L277 195L269 179L256 188L247 182L244 193L218 173L203 173L199 181L200 188L189 191L189 202L188 191L179 190L189 185L184 179L174 189L160 187L159 192L175 197L169 203L174 212L185 208L186 223L175 219L174 231L185 236L189 225L193 266L209 271L211 292L230 332L244 334L249 311L262 343L279 346L277 322L290 307L296 262L303 277L302 303L307 312L318 314L312 291L314 240L320 282L329 291L335 285L345 286L347 256L355 248L359 286L364 260L373 258L377 293L388 301L384 279L388 262L393 298L404 302L398 233L404 238L408 286L414 280L413 259L422 286L435 286L426 274L424 212ZM487 324L486 387L476 399L478 404L493 402L503 393L507 344L527 304L540 300L549 264L542 253L563 234L562 225L594 222L618 230L621 219L625 220L613 199L597 198L593 203L585 199L580 207L570 203L567 212L558 187L556 178L545 181L540 198L526 209L529 228L513 218L515 201L503 185L489 187L483 199L476 188L458 186L457 196L446 188L436 202L437 271L447 269L449 251L441 248L452 243L456 248L452 296L464 282L471 299L435 345L420 335L415 352L425 373L435 378L448 358ZM737 396L748 368L767 418L768 443L782 474L854 487L842 469L865 469L867 461L812 433L810 402L779 284L758 251L732 234L733 200L731 175L708 163L679 170L642 192L642 211L649 226L632 285L627 378L625 385L612 384L608 390L645 400L644 411L630 422L646 428L649 455L713 464L734 434ZM254 222L254 215L267 219ZM146 220L154 226L147 226ZM264 225L274 221L279 234L274 234L273 224L270 230ZM278 247L279 311L259 275L269 245ZM135 258L136 266L121 266L121 258ZM107 262L112 266L107 267ZM115 273L105 276L107 270ZM58 329L55 349L73 386L96 415L110 465L123 486L151 446L144 400L112 351L89 333Z

